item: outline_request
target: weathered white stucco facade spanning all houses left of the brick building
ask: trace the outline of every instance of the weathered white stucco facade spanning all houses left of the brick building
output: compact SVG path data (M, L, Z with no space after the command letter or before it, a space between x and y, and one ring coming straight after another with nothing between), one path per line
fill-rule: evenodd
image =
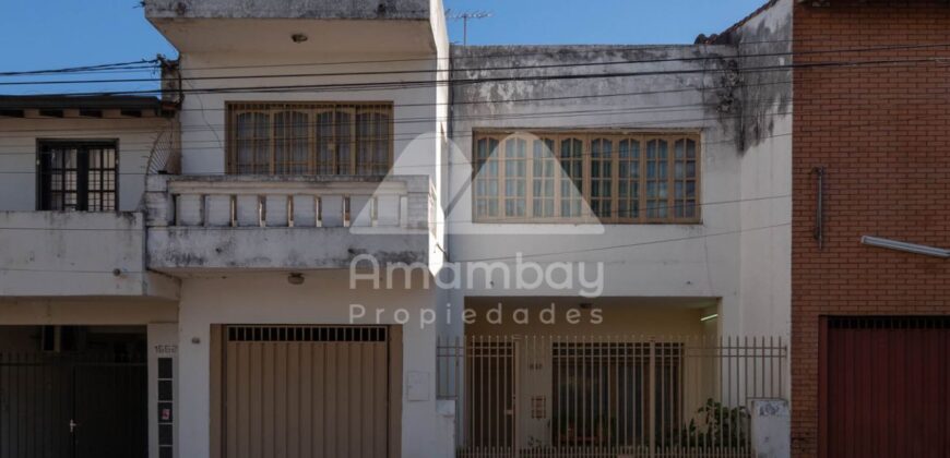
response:
M791 81L783 84L780 74L765 82L771 91L750 93L747 83L756 86L758 76L741 69L771 62L749 59L770 50L743 40L791 34L791 0L741 23L729 43L638 47L450 47L439 0L396 1L389 10L361 1L313 10L310 3L332 2L302 1L257 12L260 5L217 1L145 3L150 21L180 51L174 116L0 117L0 326L146 326L150 434L158 427L157 359L174 358L176 457L219 456L211 420L218 325L399 327L402 372L392 376L402 391L391 401L400 406L403 457L453 450L447 432L458 406L438 399L439 337L548 330L466 328L468 306L583 303L609 308L614 321L581 333L787 340ZM308 39L292 40L295 34ZM526 80L448 84L499 77L486 70L498 67L508 69L501 76ZM550 72L574 77L538 80ZM603 72L645 74L589 77ZM264 101L391 104L389 176L229 174L227 104ZM180 150L180 174L146 177L155 140L168 130ZM698 135L701 217L587 227L474 222L473 133L483 130ZM118 212L36 212L43 138L117 141ZM293 215L301 195L321 208L344 195L363 203L391 196L392 206L375 204L381 213L368 228L354 222L356 210L345 227L320 226L316 217L295 227L281 213L282 226L274 215ZM257 209L266 205L272 209ZM242 226L241 212L251 207L261 212L251 216L260 224ZM392 225L384 227L379 221L387 218ZM365 279L353 287L353 273L366 274L351 270L360 254L381 258L382 267L423 267L407 284L397 274L393 288L372 288ZM504 287L509 279L500 270L476 272L460 288L436 281L450 263L462 273L476 262L514 269L515 257L542 268L599 266L587 270L599 275L597 293L589 297L581 286ZM295 284L298 276L302 282ZM355 321L354 305L366 311ZM438 318L420 325L429 312ZM709 315L717 318L700 321ZM151 458L161 447L150 436Z

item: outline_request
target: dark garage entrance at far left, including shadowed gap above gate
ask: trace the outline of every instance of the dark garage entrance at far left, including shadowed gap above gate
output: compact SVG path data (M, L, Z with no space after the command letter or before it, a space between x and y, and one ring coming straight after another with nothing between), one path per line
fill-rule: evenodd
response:
M145 328L0 326L0 458L146 458Z

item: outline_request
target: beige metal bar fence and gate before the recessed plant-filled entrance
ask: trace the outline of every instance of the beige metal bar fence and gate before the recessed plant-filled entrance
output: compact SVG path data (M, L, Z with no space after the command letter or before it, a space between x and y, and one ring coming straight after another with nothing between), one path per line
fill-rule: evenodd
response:
M459 458L750 457L755 398L783 398L781 338L440 339Z

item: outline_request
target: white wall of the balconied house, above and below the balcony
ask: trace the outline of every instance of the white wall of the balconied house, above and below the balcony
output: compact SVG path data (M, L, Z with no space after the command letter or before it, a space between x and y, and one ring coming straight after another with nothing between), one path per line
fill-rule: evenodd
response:
M434 1L432 4L439 4ZM372 25L354 34L372 34ZM305 24L306 25L306 24ZM312 25L312 24L311 24ZM334 25L339 27L339 24ZM195 25L193 34L201 34ZM425 174L440 193L440 143L439 132L444 130L448 112L448 92L436 87L437 67L448 65L448 60L437 61L436 56L448 56L444 25L429 29L427 39L435 40L435 49L418 52L366 52L345 44L319 40L308 41L295 52L261 52L215 50L213 52L182 52L181 74L187 83L181 124L182 174L222 174L226 170L226 103L228 101L302 101L302 103L392 103L394 114L394 168L393 174ZM337 46L339 45L339 46ZM275 48L277 49L277 48ZM306 49L306 51L300 51ZM377 63L334 62L391 61ZM377 75L314 76L319 73L396 72ZM404 72L404 73L399 73ZM290 77L287 74L308 74ZM200 80L209 76L259 76L231 80ZM199 77L199 80L188 79ZM261 87L287 85L332 85L392 81L431 81L416 87L384 89L310 89L237 93L204 93L209 87ZM437 237L430 238L429 252L440 252L441 227ZM301 286L290 286L286 274L225 273L223 276L186 278L181 286L179 315L178 369L181 378L178 419L178 442L181 456L202 457L210 451L209 397L210 397L210 327L212 324L349 324L349 304L361 303L368 309L384 308L388 313L381 324L393 324L393 311L405 308L413 312L413 322L403 329L403 377L412 372L428 375L429 397L425 401L408 401L403 396L402 405L402 456L431 456L437 444L444 445L444 437L435 437L438 425L435 400L435 325L425 329L417 326L419 310L435 308L436 290L414 286L411 290L373 291L361 287L349 289L347 270L321 270L305 273ZM234 275L233 275L234 274ZM376 324L372 320L370 323ZM193 343L192 341L198 341ZM442 442L439 442L442 441Z

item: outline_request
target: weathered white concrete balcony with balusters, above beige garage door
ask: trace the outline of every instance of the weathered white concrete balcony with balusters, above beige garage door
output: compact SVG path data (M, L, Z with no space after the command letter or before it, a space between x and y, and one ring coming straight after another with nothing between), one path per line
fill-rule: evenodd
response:
M187 272L428 264L435 192L426 176L150 176L149 267Z

